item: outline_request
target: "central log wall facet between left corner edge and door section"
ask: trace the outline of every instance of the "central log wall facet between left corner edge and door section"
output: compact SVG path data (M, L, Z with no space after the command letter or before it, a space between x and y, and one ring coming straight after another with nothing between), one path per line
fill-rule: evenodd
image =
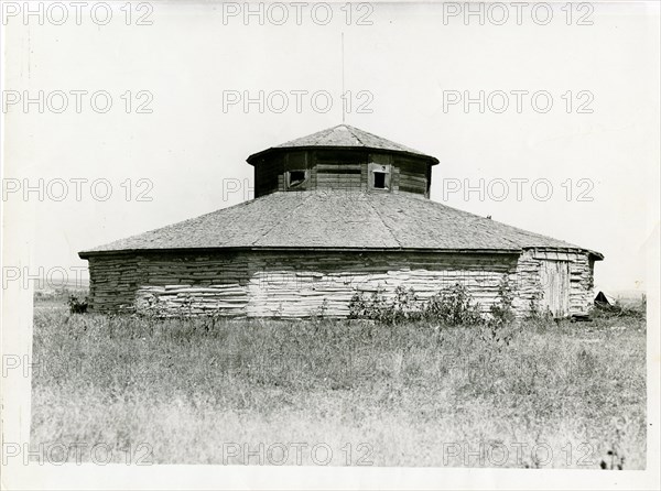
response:
M516 257L503 254L302 253L259 254L250 259L248 316L307 317L349 314L356 292L392 297L413 287L424 301L455 283L464 284L483 312L498 301L503 276Z

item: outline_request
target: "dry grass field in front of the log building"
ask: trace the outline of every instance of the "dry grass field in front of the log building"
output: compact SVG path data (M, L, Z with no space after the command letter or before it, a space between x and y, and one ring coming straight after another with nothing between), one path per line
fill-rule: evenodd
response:
M133 463L643 469L644 319L511 329L507 345L485 327L156 320L37 299L31 441Z

